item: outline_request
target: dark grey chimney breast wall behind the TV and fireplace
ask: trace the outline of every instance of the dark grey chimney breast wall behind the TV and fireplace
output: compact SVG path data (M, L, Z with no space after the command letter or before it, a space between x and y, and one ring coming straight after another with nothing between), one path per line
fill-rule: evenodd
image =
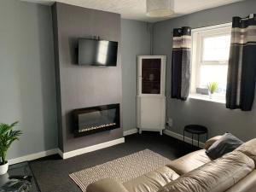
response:
M81 67L75 49L79 38L102 39L120 43L120 15L85 9L64 3L52 7L55 33L55 71L58 98L59 147L63 152L85 148L123 137L122 118L119 129L103 131L86 137L73 137L71 112L120 103L122 117L122 67L120 46L117 67Z

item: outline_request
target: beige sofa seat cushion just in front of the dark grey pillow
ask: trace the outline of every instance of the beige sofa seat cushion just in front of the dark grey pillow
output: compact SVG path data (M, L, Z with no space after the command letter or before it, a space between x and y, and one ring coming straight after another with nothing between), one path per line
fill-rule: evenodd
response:
M177 172L177 174L183 175L210 161L211 159L207 156L206 150L201 149L190 154L186 154L177 160L173 160L166 166L170 167L174 172Z

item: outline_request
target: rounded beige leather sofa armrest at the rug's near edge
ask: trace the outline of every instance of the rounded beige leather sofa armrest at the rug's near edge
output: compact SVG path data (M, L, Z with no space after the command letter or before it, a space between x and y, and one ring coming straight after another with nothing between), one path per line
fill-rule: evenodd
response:
M88 185L86 192L128 192L122 183L112 178L103 178Z

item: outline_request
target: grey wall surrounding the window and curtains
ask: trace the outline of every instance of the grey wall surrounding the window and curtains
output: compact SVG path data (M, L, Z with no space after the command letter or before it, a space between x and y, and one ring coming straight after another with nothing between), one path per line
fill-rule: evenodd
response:
M165 20L154 25L154 54L167 55L166 95L168 97L166 117L173 119L171 131L183 133L183 126L188 124L207 125L210 136L230 131L243 140L256 137L256 106L252 112L229 110L224 104L189 99L187 102L172 100L171 64L172 30L174 27L191 26L192 28L212 26L231 22L233 16L247 16L255 13L256 1L247 0L216 9L207 9L172 20Z

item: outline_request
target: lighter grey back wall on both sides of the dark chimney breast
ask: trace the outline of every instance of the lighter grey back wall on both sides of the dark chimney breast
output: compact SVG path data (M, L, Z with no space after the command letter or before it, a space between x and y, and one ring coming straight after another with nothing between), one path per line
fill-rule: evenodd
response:
M149 54L147 23L121 20L124 130L136 125L137 55ZM55 55L49 6L0 1L0 122L23 131L8 159L57 148ZM131 78L132 76L132 78ZM130 91L131 90L131 91ZM132 94L131 94L132 93ZM133 126L134 125L134 126Z

